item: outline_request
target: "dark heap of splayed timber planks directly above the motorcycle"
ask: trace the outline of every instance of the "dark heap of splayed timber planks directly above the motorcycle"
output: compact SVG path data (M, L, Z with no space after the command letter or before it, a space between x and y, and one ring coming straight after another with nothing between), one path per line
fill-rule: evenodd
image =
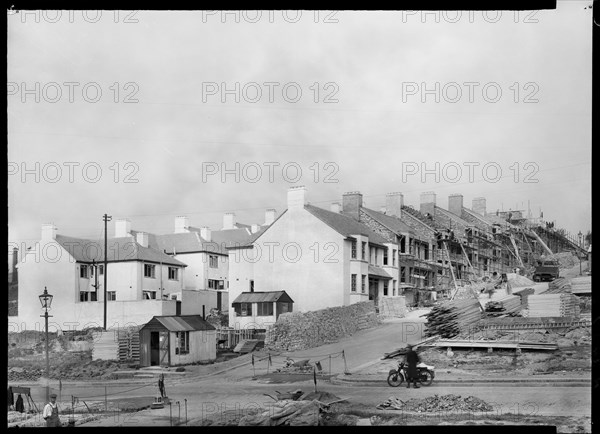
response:
M451 338L481 320L479 300L454 300L436 304L426 315L426 336Z

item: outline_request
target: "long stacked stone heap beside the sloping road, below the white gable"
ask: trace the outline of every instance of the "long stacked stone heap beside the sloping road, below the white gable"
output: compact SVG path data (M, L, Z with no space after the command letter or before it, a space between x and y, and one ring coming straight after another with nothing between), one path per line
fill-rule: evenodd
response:
M332 307L279 316L265 337L265 348L278 351L305 350L337 342L359 330L379 324L373 302Z

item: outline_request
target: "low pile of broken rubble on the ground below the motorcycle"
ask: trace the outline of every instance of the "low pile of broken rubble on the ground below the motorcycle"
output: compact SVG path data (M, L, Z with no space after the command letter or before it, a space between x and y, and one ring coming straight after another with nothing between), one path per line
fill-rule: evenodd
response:
M404 410L417 413L434 413L446 411L492 411L493 407L476 396L462 398L460 395L434 395L423 399L411 398L402 401L390 397L377 406L379 410Z

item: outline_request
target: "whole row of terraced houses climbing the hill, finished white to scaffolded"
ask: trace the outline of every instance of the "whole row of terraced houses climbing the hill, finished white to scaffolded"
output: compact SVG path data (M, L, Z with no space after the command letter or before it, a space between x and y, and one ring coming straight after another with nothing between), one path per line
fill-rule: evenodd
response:
M40 242L17 265L18 315L10 322L41 328L37 296L47 287L56 327L101 325L106 272L109 327L218 309L229 314L230 326L262 329L290 311L444 297L462 281L533 266L549 246L581 249L542 218L487 212L481 197L467 208L462 195L452 194L442 208L434 192L425 192L417 209L394 192L379 210L366 207L360 192L341 199L324 209L310 204L305 187L292 187L282 213L266 210L260 225L227 213L218 230L178 216L173 233L150 234L119 219L106 270L102 241L44 225Z

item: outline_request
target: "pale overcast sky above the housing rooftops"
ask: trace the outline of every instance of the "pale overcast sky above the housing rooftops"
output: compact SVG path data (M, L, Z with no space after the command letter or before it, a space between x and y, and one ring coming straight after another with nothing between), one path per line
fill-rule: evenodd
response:
M347 191L377 210L388 192L415 207L424 191L444 208L449 194L467 207L484 196L488 211L530 204L585 233L589 4L9 15L9 241L31 244L46 222L99 239L104 213L153 233L177 215L263 223L293 185L325 208Z

